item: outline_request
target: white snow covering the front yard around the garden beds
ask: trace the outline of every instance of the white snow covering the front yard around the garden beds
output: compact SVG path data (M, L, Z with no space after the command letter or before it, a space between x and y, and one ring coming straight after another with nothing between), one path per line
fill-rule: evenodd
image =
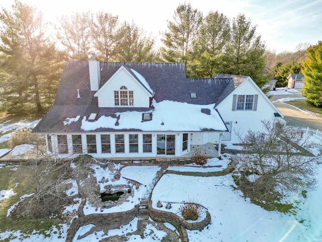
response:
M228 162L228 159L218 160L213 158L208 161L207 165L220 164L223 169ZM120 164L115 165L121 168ZM194 201L208 209L211 214L211 223L201 231L187 230L189 241L314 241L314 239L322 239L321 172L318 177L319 184L317 190L308 191L305 199L301 195L294 195L294 197L289 198L292 201L297 201L295 213L283 214L277 211L266 211L252 204L249 199L245 199L240 191L234 190L235 184L231 174L210 177L164 174L153 188L153 179L159 169L160 167L155 165L122 167L122 177L116 181L116 184L126 183L126 180L123 178L124 176L137 180L143 185L135 190L135 195L129 202L112 207L110 210L106 209L104 212L109 213L131 209L139 198L148 196L149 192L153 190L152 206L154 208L156 208L156 202L160 200L162 202L171 202L173 208L170 211L174 213L178 213L179 206L176 203L180 204L184 201ZM170 166L168 169L180 170L180 166ZM182 167L182 171L196 171L198 169L207 172L204 170L213 168L200 168L196 165ZM112 173L106 172L106 170L99 168L99 166L95 167L97 180L102 179L103 175L105 178L109 178L107 184L113 184L111 182ZM74 187L71 190L77 192ZM67 191L67 193L70 193L71 190ZM14 192L15 189L2 191L2 194L12 196ZM4 199L7 197L4 197ZM76 207L66 208L69 211L73 209L76 209ZM87 213L96 213L95 209L89 207L84 210L87 210ZM138 220L135 218L128 225L108 231L107 234L100 230L77 239L78 235L84 235L94 227L94 225L89 224L77 231L73 241L93 241L115 234L126 234L135 231L137 223ZM167 226L171 227L170 224L167 224ZM172 227L172 229L175 228ZM67 225L63 224L58 232L59 236L57 235L57 229L53 228L48 232L49 237L46 238L41 234L37 234L36 231L28 238L24 238L24 234L20 231L7 231L0 233L0 238L5 239L10 234L15 234L17 238L11 241L60 242L65 241L66 231ZM145 228L145 235L144 239L133 234L127 238L128 241L161 241L165 236L165 232L149 225Z

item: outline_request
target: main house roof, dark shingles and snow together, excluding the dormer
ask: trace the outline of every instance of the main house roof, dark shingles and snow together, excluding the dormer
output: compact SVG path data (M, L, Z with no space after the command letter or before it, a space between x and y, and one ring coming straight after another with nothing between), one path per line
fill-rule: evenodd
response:
M231 77L186 78L183 63L104 62L100 63L100 88L121 67L154 94L155 106L98 107L96 91L90 88L89 63L66 62L54 105L33 133L226 130L213 108L222 99L223 92L228 95L233 90L229 88L233 86ZM191 93L196 93L197 98L191 98ZM211 110L210 115L201 109ZM141 122L143 112L152 112L152 120ZM85 117L91 113L97 113L97 118L89 126ZM135 122L132 117L136 118ZM118 126L115 126L117 118ZM105 125L100 124L102 120Z

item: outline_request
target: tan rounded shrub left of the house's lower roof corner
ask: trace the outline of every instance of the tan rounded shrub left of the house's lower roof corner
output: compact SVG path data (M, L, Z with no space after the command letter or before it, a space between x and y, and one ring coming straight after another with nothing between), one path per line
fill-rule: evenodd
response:
M11 149L15 148L17 145L22 144L31 144L37 145L39 136L31 134L32 129L24 128L21 130L17 130L10 137L9 147Z

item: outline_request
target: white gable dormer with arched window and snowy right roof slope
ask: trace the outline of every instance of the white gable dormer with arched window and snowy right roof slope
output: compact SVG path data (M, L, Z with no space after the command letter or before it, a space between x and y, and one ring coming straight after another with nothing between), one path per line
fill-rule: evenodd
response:
M142 75L122 66L94 96L99 107L149 107L153 91Z

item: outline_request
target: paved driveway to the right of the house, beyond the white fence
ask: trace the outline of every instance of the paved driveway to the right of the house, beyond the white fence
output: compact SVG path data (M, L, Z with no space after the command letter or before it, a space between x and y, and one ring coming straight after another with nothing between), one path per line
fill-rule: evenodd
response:
M285 97L294 97L299 98L303 97L302 93L292 93L293 95L274 95L270 100L274 105L281 111L284 115L287 126L296 126L296 127L309 127L311 129L318 129L322 131L322 114L307 114L302 111L294 108L293 106L276 101Z

